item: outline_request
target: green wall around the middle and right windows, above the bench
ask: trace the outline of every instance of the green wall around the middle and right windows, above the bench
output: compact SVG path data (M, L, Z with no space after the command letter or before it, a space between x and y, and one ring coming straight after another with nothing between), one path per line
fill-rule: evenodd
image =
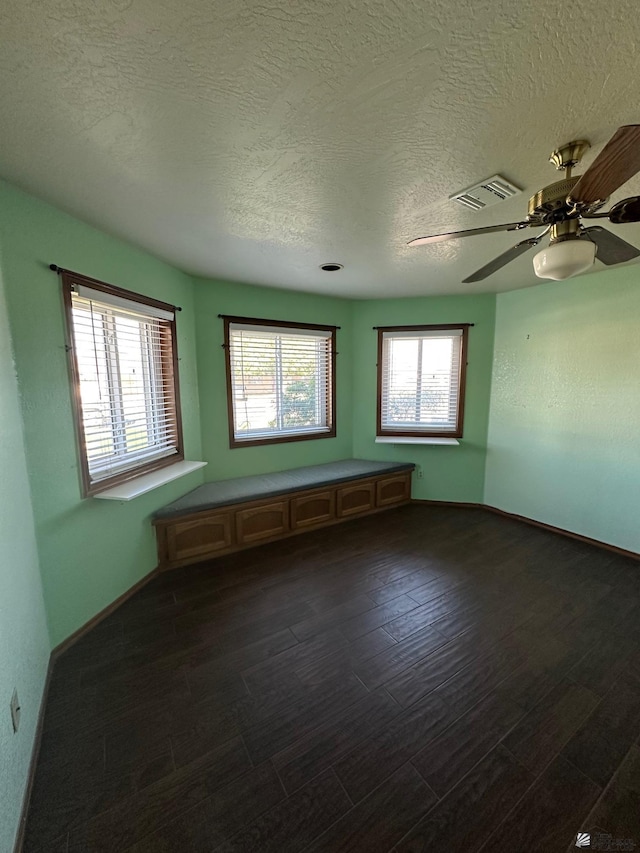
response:
M344 459L407 460L424 473L414 497L481 501L493 352L495 296L347 301L305 293L199 279L196 281L197 361L202 446L208 480L277 471ZM337 424L334 439L231 450L228 441L223 323L231 314L328 323L337 338ZM374 325L474 323L470 329L465 435L458 447L375 443Z

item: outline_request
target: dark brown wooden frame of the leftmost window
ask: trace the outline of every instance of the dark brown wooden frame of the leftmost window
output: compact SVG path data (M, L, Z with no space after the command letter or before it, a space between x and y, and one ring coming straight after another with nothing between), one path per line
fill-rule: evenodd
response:
M70 270L58 270L62 282L62 295L65 316L65 349L67 352L67 365L69 371L69 380L71 385L71 409L73 414L74 431L76 437L76 450L78 454L79 470L80 470L80 485L82 497L92 497L93 495L105 492L108 489L118 486L121 483L135 480L144 474L149 474L151 471L157 471L161 468L167 468L170 465L175 465L176 462L184 460L184 443L182 434L182 412L180 408L180 379L178 372L178 339L176 330L175 312L180 309L167 302L162 302L159 299L153 299L149 296L144 296L141 293L135 293L131 290L125 290L122 287L117 287L113 284L100 281L96 278L80 275L79 273L71 272ZM75 284L90 287L92 290L97 290L116 296L120 299L125 299L130 302L135 302L138 305L148 305L161 311L168 311L174 315L173 320L169 323L169 333L171 338L171 354L169 358L162 359L162 374L163 376L171 376L173 379L172 387L172 403L173 403L173 420L176 431L176 452L169 456L163 456L160 459L154 459L150 462L145 462L137 465L135 468L127 471L121 471L111 477L105 477L98 482L91 481L89 473L89 460L87 457L87 445L84 431L84 421L82 417L82 393L80 390L80 371L78 368L78 360L76 357L74 325L73 325L73 301L72 292Z

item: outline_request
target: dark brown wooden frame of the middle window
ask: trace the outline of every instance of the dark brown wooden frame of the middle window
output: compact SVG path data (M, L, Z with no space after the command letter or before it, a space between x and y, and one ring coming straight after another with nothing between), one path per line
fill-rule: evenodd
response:
M224 354L225 374L227 382L227 419L229 425L229 447L232 450L238 447L258 447L265 444L285 444L290 441L313 441L321 438L336 437L336 330L339 326L330 326L320 323L294 323L286 320L265 320L256 317L236 317L226 314L218 315L224 320ZM237 439L235 436L235 423L233 416L233 382L231 379L231 345L230 326L232 323L247 323L254 326L275 326L282 329L305 329L308 331L330 332L330 369L328 371L328 391L326 400L328 429L316 432L300 433L299 435L274 435L273 437Z

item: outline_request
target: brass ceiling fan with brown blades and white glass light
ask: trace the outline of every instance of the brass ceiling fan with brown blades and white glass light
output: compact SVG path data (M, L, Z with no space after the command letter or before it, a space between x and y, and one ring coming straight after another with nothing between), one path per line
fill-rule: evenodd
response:
M607 266L640 257L640 249L606 228L599 225L585 227L582 223L583 219L608 219L614 225L640 222L640 196L625 198L606 212L600 210L618 187L640 171L640 125L618 128L584 175L572 177L572 169L589 147L589 143L581 139L552 152L549 160L556 169L564 171L564 178L543 187L529 199L529 212L522 222L418 237L408 245L421 246L494 231L544 229L476 270L464 279L464 284L482 281L497 272L537 246L547 234L549 247L538 252L533 259L533 268L539 278L556 281L570 278L589 269L596 257Z

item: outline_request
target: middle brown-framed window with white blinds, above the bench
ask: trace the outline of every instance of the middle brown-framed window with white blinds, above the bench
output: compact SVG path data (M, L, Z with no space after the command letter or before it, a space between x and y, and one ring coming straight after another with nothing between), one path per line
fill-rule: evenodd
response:
M335 436L336 327L224 322L231 447Z

